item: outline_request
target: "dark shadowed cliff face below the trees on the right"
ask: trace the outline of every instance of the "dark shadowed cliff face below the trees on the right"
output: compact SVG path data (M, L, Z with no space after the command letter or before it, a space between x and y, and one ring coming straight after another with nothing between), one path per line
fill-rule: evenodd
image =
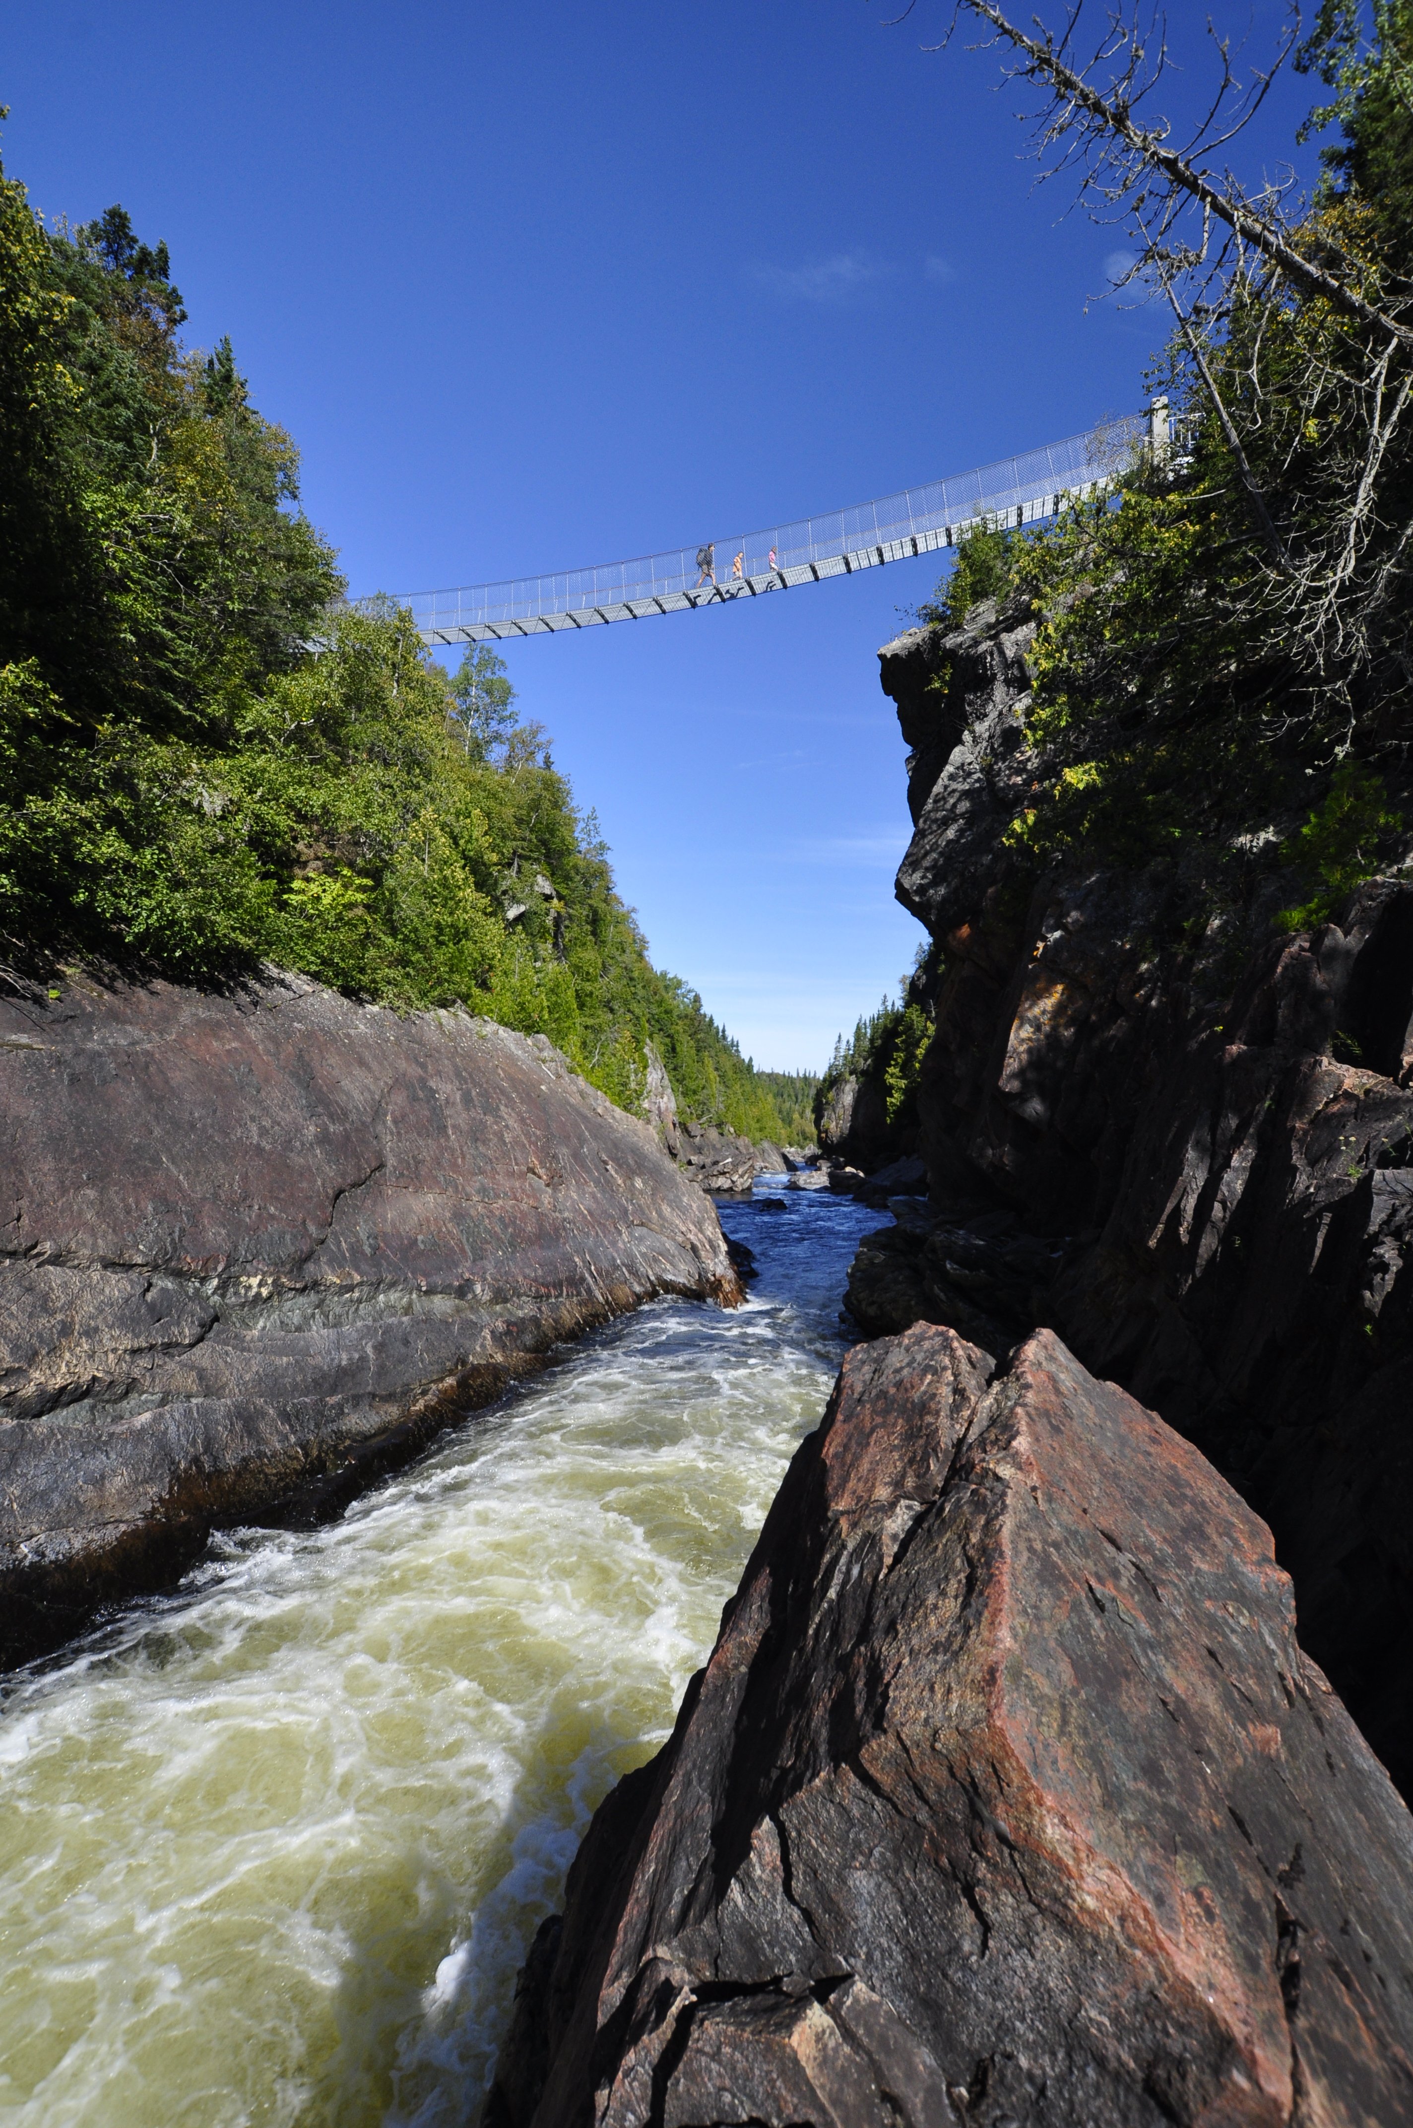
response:
M1036 775L1028 641L979 609L881 653L913 749L898 896L938 947L924 1156L970 1230L860 1258L855 1307L992 1349L1038 1317L1194 1439L1409 1788L1413 887L1292 938L1279 879L1196 936L1173 866L1036 881L1002 841Z

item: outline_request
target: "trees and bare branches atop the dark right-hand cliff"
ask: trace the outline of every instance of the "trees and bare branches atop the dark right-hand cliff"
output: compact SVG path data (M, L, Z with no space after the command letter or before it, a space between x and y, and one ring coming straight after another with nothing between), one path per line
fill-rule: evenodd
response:
M1149 381L1177 443L1117 500L973 538L921 617L958 626L998 598L1038 621L1017 851L1166 851L1217 896L1224 872L1249 894L1253 870L1281 870L1285 921L1319 921L1400 847L1411 787L1413 4L1319 6L1294 57L1328 83L1309 123L1336 121L1339 143L1296 213L1275 192L1247 202L1266 253L1217 253L1211 217L1185 230L1192 202L1075 119L1060 47L1007 34L1051 96L1047 140L1083 132L1098 204L1132 215L1130 294L1170 298ZM1115 111L1141 60L1115 36Z

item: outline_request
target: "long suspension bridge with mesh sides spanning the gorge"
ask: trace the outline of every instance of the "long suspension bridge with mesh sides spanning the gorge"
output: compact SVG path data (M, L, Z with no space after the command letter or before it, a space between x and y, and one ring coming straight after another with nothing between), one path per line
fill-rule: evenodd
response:
M689 613L732 598L762 598L826 577L851 577L919 553L938 553L977 530L1028 526L1113 487L1143 451L1166 460L1168 402L1119 415L1083 436L1002 458L992 466L904 487L898 496L855 509L804 517L766 532L704 538L694 547L602 562L549 577L477 583L449 592L413 592L411 606L423 643L500 643L545 636L600 621L643 621L653 613Z

